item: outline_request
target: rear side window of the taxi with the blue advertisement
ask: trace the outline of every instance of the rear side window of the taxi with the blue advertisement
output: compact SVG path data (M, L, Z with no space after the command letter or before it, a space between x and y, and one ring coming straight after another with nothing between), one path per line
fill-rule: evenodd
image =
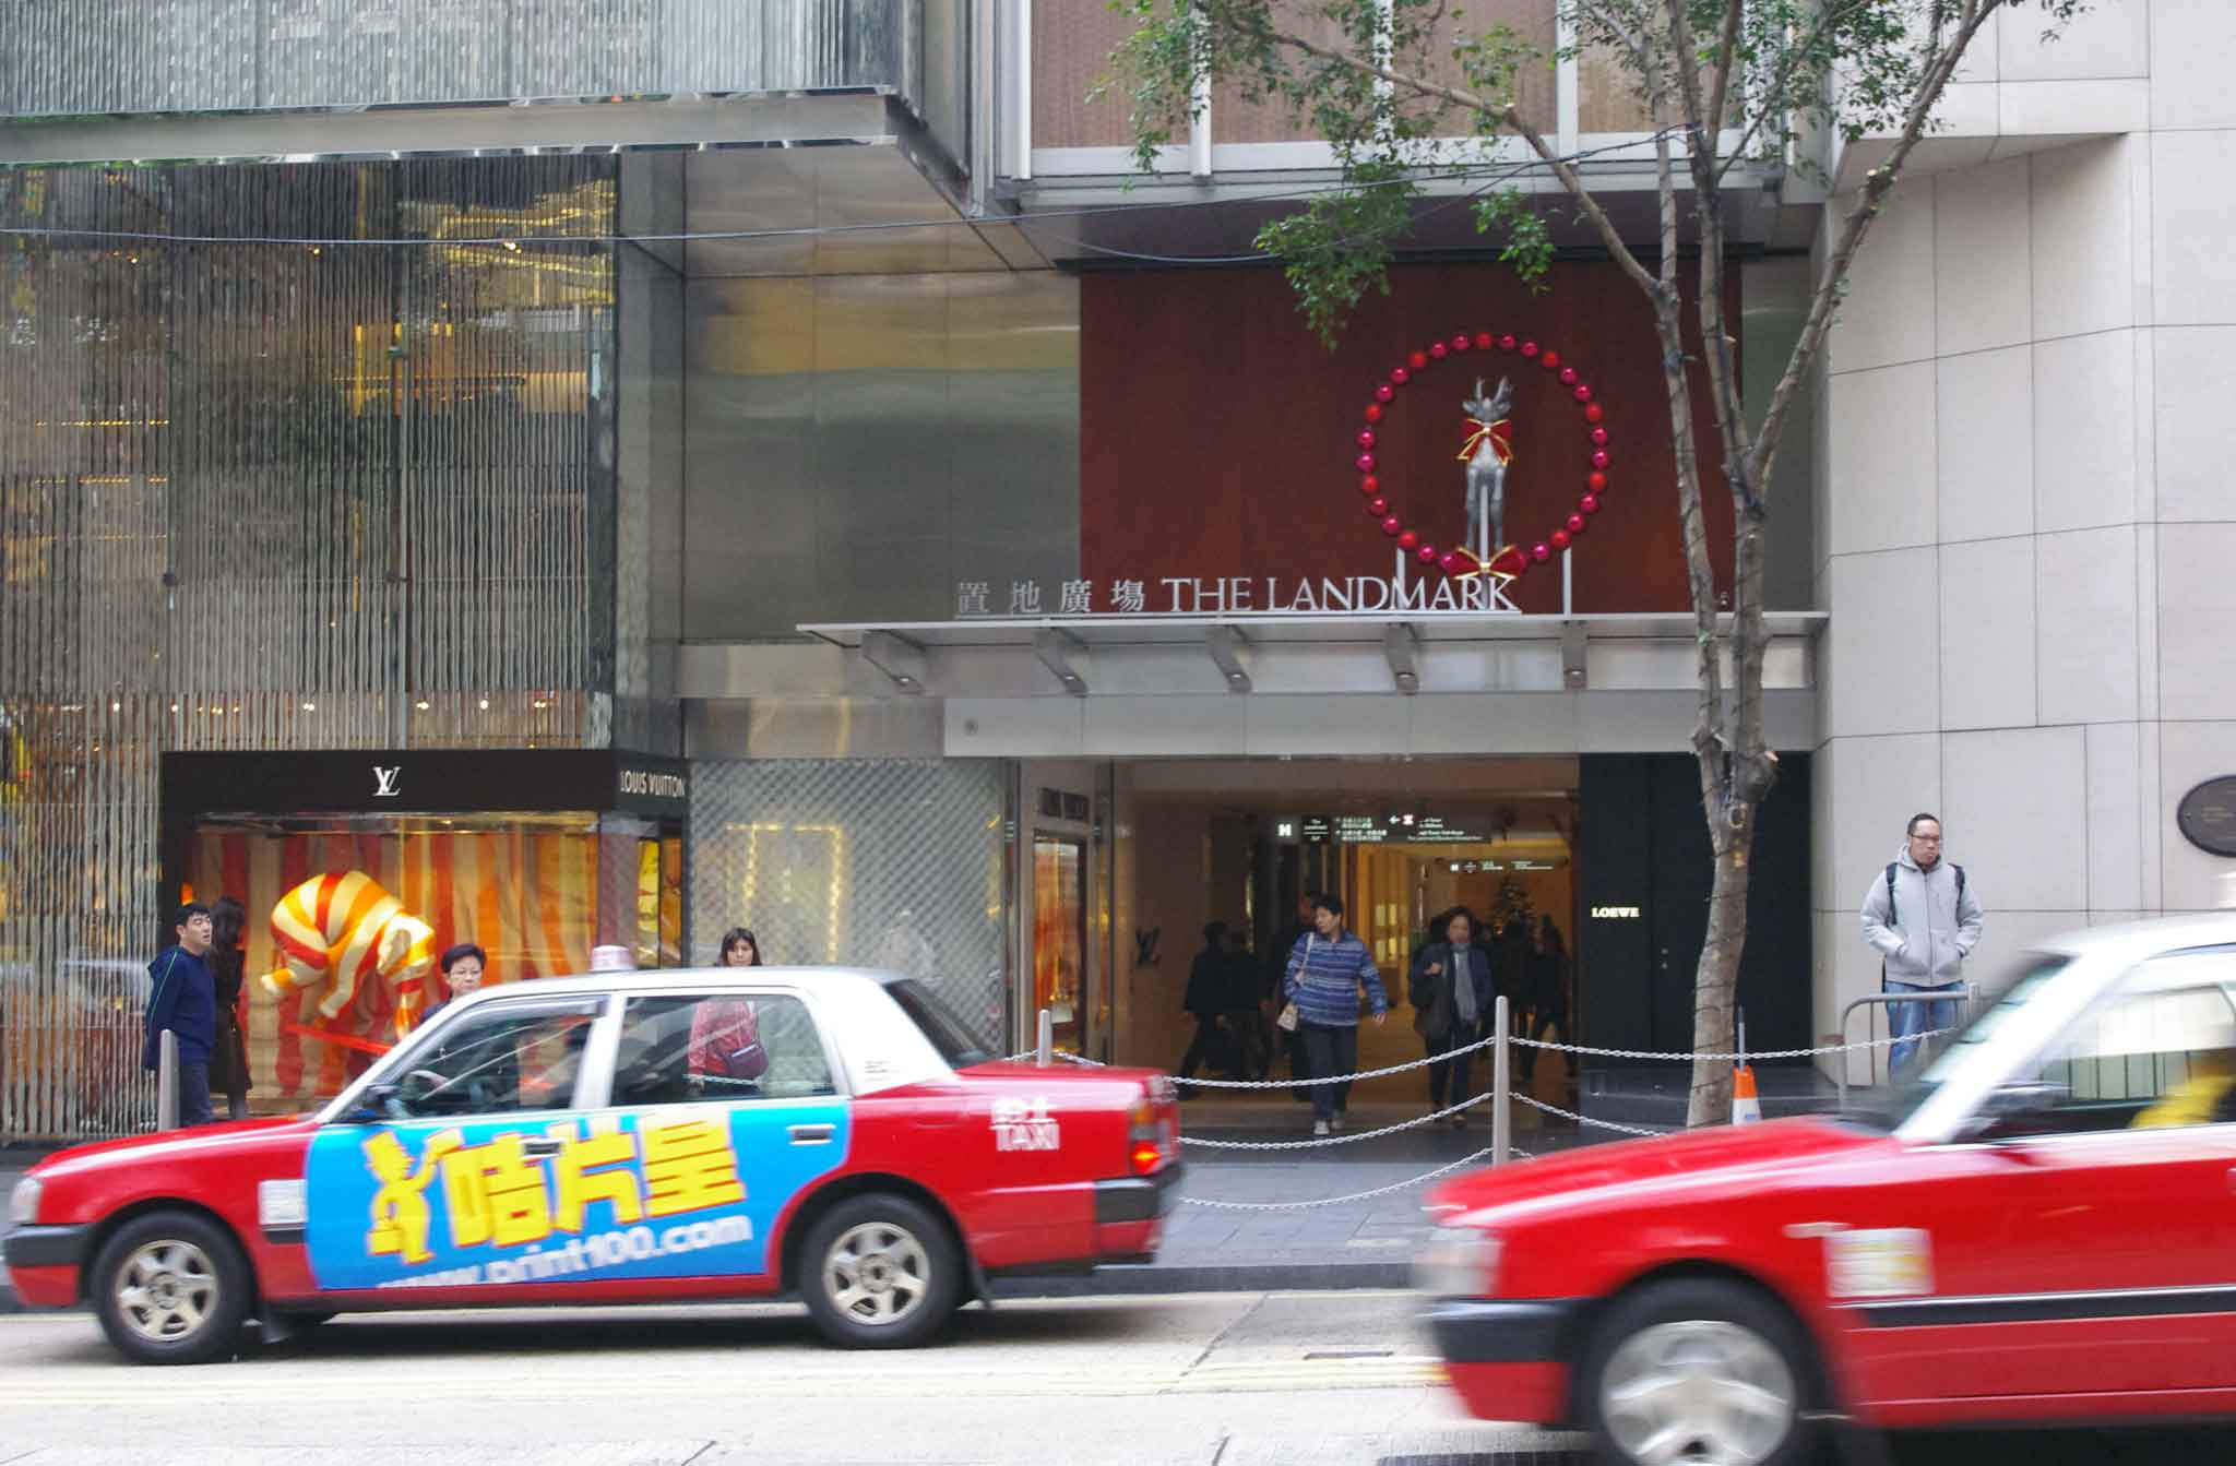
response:
M785 994L637 997L622 1017L613 1104L834 1095L807 1003Z

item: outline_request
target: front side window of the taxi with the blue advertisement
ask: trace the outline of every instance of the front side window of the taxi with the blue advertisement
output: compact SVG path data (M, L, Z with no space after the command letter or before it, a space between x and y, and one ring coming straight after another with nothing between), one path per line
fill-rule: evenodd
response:
M411 1053L396 1100L414 1120L572 1108L601 1003L499 1003L461 1019Z

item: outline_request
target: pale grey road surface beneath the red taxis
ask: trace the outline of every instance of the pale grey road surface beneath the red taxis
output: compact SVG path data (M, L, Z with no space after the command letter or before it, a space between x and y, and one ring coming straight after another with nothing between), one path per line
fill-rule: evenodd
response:
M0 1466L1514 1466L1581 1441L1469 1421L1402 1292L966 1310L823 1348L789 1305L338 1319L233 1363L125 1365L89 1314L0 1316ZM1545 1453L1545 1455L1536 1455ZM1836 1466L2187 1466L2232 1432L1952 1435Z

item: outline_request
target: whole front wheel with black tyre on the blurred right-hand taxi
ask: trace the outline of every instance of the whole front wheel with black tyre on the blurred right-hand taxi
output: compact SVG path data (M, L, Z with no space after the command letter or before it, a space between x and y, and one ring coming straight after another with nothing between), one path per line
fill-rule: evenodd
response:
M1579 1406L1619 1466L1793 1466L1811 1459L1820 1394L1800 1325L1715 1278L1652 1283L1592 1330Z

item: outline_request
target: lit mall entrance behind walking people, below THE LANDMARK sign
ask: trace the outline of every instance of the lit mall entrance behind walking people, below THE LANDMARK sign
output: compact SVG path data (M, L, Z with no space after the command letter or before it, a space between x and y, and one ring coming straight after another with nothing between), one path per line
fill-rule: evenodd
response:
M1131 813L1116 851L1118 905L1131 910L1136 932L1116 1003L1120 1062L1178 1070L1196 1030L1187 977L1212 921L1234 934L1237 956L1245 954L1237 970L1254 974L1268 1017L1279 1010L1279 974L1313 892L1342 896L1391 997L1389 1021L1359 1028L1359 1068L1424 1057L1409 972L1431 918L1458 905L1516 943L1494 941L1487 952L1503 990L1518 992L1529 939L1550 923L1563 950L1554 961L1565 968L1565 1010L1576 1012L1574 758L1143 760L1120 767L1118 789ZM1286 1073L1277 1059L1275 1075ZM1485 1062L1476 1088L1487 1082ZM1547 1064L1538 1084L1561 1102L1567 1068ZM1375 1108L1427 1097L1422 1070L1355 1091L1355 1104ZM1288 1091L1263 1102L1295 1104Z

